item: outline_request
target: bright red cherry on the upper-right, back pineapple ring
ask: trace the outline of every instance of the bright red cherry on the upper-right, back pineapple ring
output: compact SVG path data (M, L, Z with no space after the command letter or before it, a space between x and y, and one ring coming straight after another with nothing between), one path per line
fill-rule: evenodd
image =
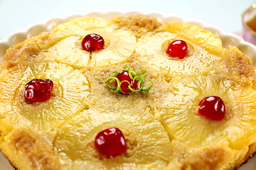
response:
M171 55L171 57L178 57L180 59L185 57L187 52L188 45L183 40L175 40L171 42L171 44L166 50L166 53Z

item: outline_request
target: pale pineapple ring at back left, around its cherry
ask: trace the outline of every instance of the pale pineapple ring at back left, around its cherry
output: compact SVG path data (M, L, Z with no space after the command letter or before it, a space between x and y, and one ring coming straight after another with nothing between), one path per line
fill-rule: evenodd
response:
M103 67L126 62L134 52L137 40L131 31L116 28L112 21L92 17L65 22L50 33L62 40L41 55L50 55L58 62L75 67ZM82 39L92 33L105 40L102 50L82 50Z

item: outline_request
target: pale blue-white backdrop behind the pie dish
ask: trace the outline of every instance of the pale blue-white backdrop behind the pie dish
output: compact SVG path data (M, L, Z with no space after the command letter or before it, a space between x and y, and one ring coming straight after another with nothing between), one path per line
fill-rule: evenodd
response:
M0 40L49 18L92 11L140 11L203 21L228 33L240 33L241 14L256 0L0 0Z

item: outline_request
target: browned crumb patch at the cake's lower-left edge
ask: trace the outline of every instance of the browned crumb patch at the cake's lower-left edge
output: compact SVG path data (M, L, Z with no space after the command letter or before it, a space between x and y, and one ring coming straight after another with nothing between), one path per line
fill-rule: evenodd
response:
M11 152L14 157L12 159L23 164L24 169L60 169L58 159L53 154L53 148L31 130L14 130L10 139L6 141L6 149Z

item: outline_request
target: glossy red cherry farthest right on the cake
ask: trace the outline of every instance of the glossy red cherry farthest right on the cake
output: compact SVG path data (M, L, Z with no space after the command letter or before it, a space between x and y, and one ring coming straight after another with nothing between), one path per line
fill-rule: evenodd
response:
M199 103L199 115L204 115L210 120L223 120L225 117L225 104L218 96L207 96Z

